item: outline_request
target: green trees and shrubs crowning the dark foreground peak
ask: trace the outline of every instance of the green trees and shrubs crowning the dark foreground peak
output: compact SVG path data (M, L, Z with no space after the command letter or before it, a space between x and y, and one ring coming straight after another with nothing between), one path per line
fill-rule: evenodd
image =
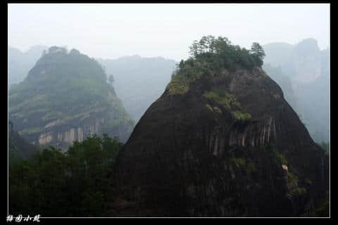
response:
M251 50L234 46L226 37L215 38L211 35L194 41L190 57L181 60L167 88L169 95L182 95L189 90L189 84L202 76L213 76L221 70L248 70L263 65L265 53L258 43L253 43Z

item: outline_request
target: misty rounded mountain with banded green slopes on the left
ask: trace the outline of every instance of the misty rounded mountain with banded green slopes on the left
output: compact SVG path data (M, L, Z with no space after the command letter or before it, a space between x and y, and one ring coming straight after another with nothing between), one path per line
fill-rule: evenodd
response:
M76 49L49 48L8 98L19 134L43 145L67 148L103 133L126 141L134 123L101 65Z

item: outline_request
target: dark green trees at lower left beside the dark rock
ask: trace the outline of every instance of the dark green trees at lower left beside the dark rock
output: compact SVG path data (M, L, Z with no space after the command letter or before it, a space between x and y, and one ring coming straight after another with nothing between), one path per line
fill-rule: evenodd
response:
M104 135L75 142L67 153L45 148L9 167L9 213L44 217L104 215L122 143Z

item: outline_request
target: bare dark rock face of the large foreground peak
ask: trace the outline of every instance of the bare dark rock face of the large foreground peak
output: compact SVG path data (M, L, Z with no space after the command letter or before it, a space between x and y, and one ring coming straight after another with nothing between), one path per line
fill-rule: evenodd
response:
M230 93L251 119L206 91ZM329 182L327 156L261 68L166 89L115 166L111 214L126 217L308 217Z

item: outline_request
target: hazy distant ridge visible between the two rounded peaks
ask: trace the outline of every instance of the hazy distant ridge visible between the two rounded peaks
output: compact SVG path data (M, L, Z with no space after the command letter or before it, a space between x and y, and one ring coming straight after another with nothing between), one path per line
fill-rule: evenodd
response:
M97 59L108 75L113 75L116 94L137 122L161 96L175 68L175 60L163 57L124 56L117 59Z

